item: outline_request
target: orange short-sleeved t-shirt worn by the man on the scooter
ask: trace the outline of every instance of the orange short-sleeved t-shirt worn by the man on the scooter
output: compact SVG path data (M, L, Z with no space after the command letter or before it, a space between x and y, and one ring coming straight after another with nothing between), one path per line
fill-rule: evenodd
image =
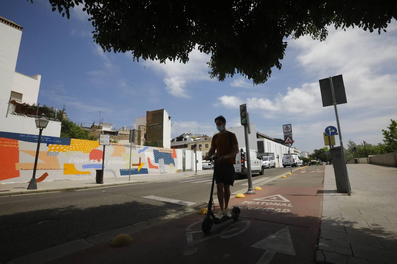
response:
M230 134L230 135L229 135ZM212 137L212 142L211 145L215 146L216 149L216 156L225 156L227 154L230 154L233 150L233 145L238 145L239 143L237 142L236 135L234 133L231 133L230 131L227 131L227 133L218 133ZM227 164L227 163L233 163L236 164L236 156L227 158L226 160L220 162L220 164Z

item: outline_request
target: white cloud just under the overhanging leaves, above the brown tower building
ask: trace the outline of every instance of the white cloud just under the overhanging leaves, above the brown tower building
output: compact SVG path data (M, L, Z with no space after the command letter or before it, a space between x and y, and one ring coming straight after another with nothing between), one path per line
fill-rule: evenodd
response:
M127 55L131 57L131 54ZM186 64L179 61L169 61L160 63L159 61L147 60L144 62L146 68L150 67L158 74L165 75L164 84L166 91L175 97L189 98L189 93L185 90L187 83L197 80L208 80L208 65L210 55L201 53L197 49L193 49L189 53L189 61Z

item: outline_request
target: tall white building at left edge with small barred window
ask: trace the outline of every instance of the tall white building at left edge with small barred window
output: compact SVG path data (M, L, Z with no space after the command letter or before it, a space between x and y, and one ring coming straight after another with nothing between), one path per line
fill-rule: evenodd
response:
M41 75L27 76L15 72L23 28L0 17L0 131L38 134L35 118L15 114L16 103L36 104ZM42 135L59 137L61 122L50 121Z

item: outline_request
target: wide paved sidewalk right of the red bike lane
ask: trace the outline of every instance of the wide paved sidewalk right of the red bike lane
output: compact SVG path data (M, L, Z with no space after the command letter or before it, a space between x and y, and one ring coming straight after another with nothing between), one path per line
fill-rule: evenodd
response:
M349 164L351 196L336 193L326 166L317 261L396 263L397 168Z

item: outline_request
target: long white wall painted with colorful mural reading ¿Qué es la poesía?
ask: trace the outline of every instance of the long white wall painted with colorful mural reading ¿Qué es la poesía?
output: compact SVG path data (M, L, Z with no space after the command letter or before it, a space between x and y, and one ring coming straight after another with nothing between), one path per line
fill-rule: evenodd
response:
M32 178L37 135L0 132L0 184L28 182ZM150 173L175 173L178 155L175 149L110 143L105 148L104 177ZM178 154L178 155L177 155ZM103 146L98 141L43 136L37 163L37 182L94 179L102 169ZM180 158L179 163L181 163ZM201 167L201 165L200 165Z

